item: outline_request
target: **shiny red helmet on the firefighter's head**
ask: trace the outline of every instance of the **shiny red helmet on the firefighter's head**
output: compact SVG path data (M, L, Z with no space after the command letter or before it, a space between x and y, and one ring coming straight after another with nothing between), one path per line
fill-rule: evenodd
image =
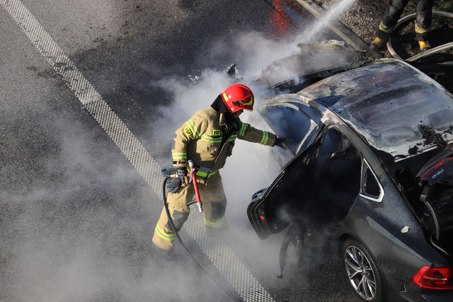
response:
M242 109L253 110L253 102L255 100L252 91L246 85L231 85L225 89L221 96L226 108L231 113Z

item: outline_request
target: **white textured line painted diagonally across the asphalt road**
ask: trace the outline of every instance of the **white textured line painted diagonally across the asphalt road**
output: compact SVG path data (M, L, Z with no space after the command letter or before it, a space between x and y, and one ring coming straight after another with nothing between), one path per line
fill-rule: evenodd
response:
M86 106L88 112L92 114L149 186L160 196L162 194L162 177L160 176L159 166L140 144L140 141L111 110L92 84L74 66L21 1L0 0L0 4L19 24L53 69L63 77L67 86ZM274 301L231 249L222 241L206 236L199 217L191 216L194 218L186 222L189 234L236 289L242 299L250 302Z

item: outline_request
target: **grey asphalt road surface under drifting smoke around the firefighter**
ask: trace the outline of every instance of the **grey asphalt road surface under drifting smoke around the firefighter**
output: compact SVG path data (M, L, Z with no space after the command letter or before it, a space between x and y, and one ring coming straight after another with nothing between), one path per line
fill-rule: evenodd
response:
M227 301L178 244L176 262L151 248L156 169L228 84L224 68L259 77L309 24L270 0L0 0L0 300ZM262 186L236 148L225 243L203 241L197 213L181 231L198 261L238 300L357 301L317 248L299 267L290 252L276 278L283 234L251 229Z

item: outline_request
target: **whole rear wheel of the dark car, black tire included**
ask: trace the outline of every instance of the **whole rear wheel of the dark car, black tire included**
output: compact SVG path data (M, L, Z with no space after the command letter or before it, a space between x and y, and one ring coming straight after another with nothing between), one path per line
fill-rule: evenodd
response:
M347 239L342 249L346 278L361 301L383 302L381 274L368 250L356 239Z

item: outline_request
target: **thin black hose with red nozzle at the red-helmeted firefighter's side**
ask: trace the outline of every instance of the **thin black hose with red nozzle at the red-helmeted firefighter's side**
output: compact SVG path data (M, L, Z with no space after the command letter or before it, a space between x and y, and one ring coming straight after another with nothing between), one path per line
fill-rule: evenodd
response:
M195 173L197 172L197 169L195 169L192 160L189 160L188 164L189 164L189 167L190 167L190 171L187 173L187 177L189 177L189 183L190 182L193 183L193 188L195 190L195 199L191 200L191 201L188 201L186 203L186 205L189 206L189 205L192 205L194 203L197 203L198 210L199 210L200 213L202 213L203 212L202 202L201 202L201 199L200 199L200 194L198 192L197 178L195 176ZM176 226L174 225L173 219L171 218L171 215L170 215L169 206L167 204L167 192L165 190L165 185L167 184L167 181L170 178L177 178L177 177L178 177L178 174L173 174L173 175L165 177L164 185L162 186L163 197L164 197L164 209L165 209L165 212L167 213L167 218L169 219L169 223L170 223L171 229L173 230L173 233L176 235L176 238L178 238L178 241L181 243L181 245L184 247L186 252L189 254L190 258L192 258L193 263L195 263L195 265L202 271L202 273L205 274L205 276L209 280L211 280L212 283L214 283L214 285L225 295L225 297L228 298L229 301L236 302L236 300L234 298L230 297L217 283L215 283L214 280L212 280L212 278L206 273L206 271L201 267L201 265L197 262L197 260L195 260L195 258L193 258L192 254L189 252L188 248L183 243L183 240L181 239L181 237L179 237L179 234L178 234L178 232L176 230Z

